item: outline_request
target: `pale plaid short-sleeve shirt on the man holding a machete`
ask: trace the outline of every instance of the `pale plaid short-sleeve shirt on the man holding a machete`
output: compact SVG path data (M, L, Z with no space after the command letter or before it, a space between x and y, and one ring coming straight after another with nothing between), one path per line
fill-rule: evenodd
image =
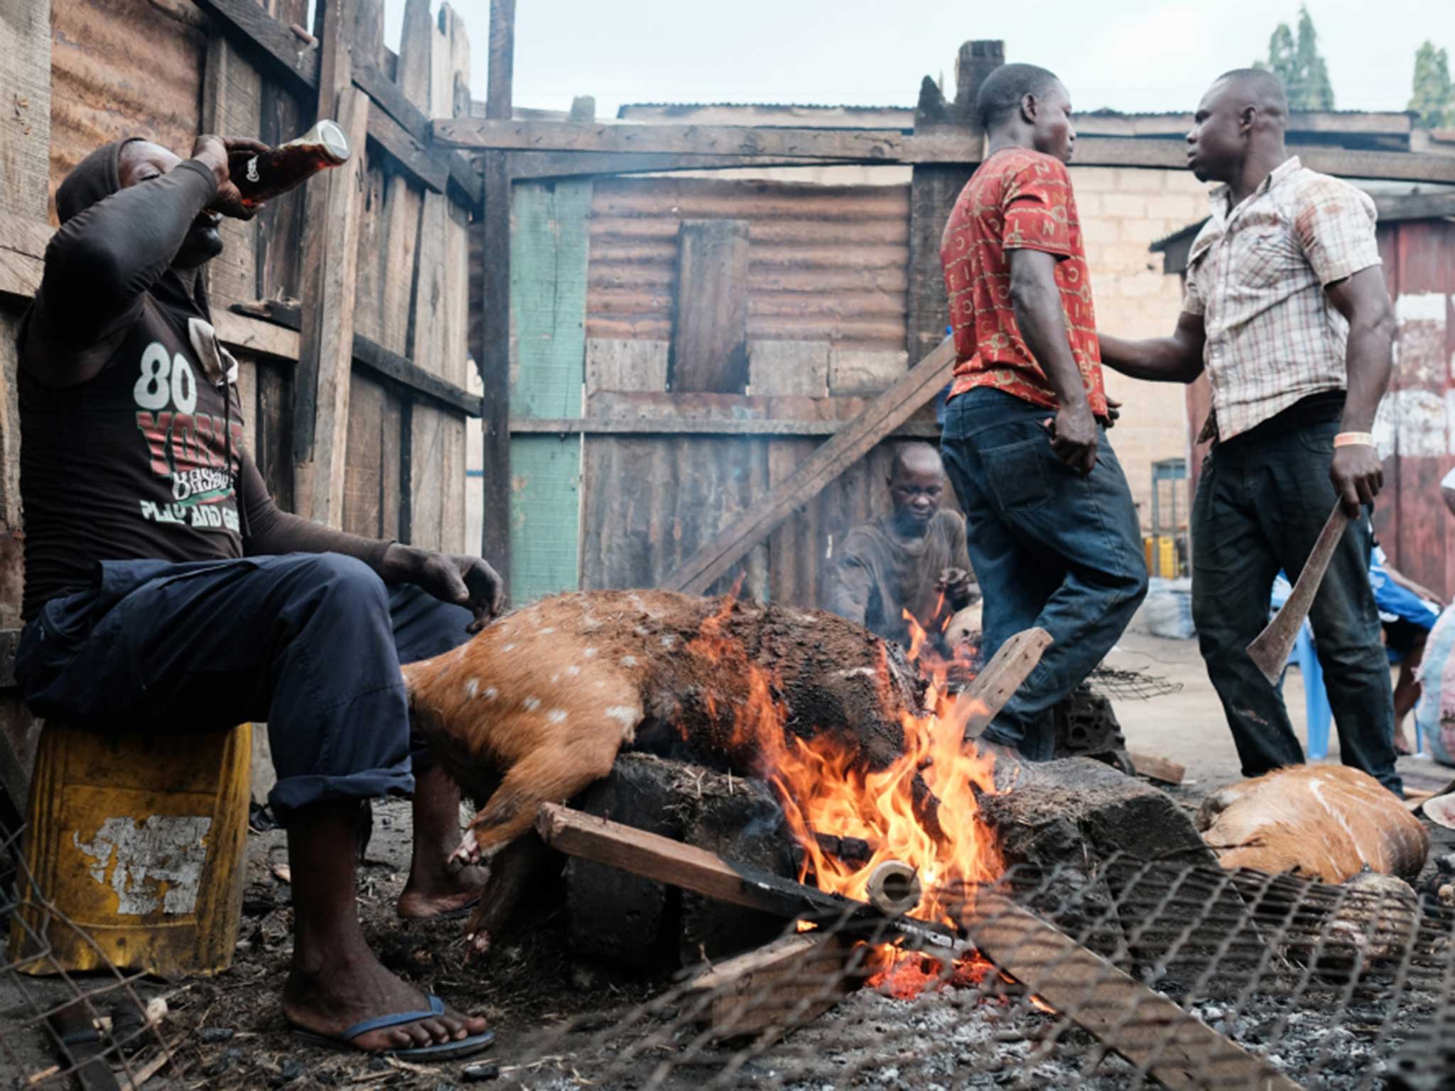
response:
M1228 188L1213 191L1212 218L1189 252L1183 310L1203 316L1218 438L1344 390L1349 323L1324 288L1372 265L1374 201L1296 156L1232 209Z

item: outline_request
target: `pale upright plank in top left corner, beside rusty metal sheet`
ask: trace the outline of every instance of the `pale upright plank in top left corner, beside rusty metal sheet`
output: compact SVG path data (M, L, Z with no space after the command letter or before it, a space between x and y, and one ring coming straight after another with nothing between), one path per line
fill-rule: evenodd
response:
M51 176L51 0L6 0L0 57L0 211L44 220Z

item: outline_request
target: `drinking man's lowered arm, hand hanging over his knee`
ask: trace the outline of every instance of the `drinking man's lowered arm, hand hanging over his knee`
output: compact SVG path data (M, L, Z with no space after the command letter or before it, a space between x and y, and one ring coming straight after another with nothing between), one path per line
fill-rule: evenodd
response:
M247 516L243 550L250 557L281 553L342 553L356 557L386 583L413 583L444 602L474 612L471 630L479 630L501 612L505 586L482 557L463 557L345 534L282 511L274 503L258 465L242 455L239 505Z

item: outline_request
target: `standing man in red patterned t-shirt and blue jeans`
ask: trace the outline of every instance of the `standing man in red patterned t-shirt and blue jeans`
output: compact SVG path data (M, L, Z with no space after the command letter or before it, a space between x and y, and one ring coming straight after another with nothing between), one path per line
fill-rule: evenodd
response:
M997 68L975 102L988 137L940 243L959 364L941 454L985 594L986 656L1040 626L1055 639L985 738L1033 759L1052 707L1147 594L1142 534L1106 441L1101 356L1065 164L1067 89L1032 64Z

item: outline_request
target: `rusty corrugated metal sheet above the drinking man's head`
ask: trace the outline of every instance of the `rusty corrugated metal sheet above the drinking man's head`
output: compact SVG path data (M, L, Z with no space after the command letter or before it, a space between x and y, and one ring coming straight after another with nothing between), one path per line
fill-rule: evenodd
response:
M179 156L202 115L207 38L147 0L51 3L51 196L92 150L146 137ZM252 135L252 134L240 134Z

